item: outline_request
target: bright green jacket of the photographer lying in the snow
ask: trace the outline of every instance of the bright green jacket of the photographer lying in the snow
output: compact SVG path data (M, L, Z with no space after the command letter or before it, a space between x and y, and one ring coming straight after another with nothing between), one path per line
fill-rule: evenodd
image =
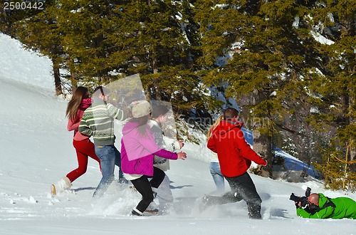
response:
M308 212L308 209L305 210L299 207L297 208L297 215L310 219L356 219L356 202L354 200L348 197L329 199L324 194L319 194L319 196L319 207L321 208L319 211L313 214ZM333 202L335 207L329 201ZM327 207L323 208L325 204L327 204Z

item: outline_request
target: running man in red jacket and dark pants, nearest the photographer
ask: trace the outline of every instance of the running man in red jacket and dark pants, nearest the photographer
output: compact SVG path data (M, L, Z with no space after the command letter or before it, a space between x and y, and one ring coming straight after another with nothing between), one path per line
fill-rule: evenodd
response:
M244 123L238 120L239 111L235 108L224 110L224 120L215 127L207 144L211 151L217 153L221 174L229 182L231 192L222 196L205 196L201 210L209 205L239 202L244 199L249 218L261 219L262 200L247 170L251 161L263 166L266 166L267 162L248 145L241 130Z

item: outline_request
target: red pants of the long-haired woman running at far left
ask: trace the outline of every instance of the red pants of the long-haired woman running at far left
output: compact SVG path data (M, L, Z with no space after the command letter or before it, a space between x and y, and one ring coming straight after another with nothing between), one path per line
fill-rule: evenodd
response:
M90 140L82 140L82 141L73 140L73 146L75 148L75 151L77 152L78 168L73 169L73 171L67 174L67 177L70 180L70 182L73 182L75 179L78 179L78 177L80 177L87 171L88 157L93 158L93 160L99 163L99 167L101 171L100 160L95 155L95 147L93 142L91 142Z

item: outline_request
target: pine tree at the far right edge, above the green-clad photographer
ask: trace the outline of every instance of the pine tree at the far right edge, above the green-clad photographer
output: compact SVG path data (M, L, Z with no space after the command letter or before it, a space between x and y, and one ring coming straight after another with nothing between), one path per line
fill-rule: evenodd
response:
M309 120L324 130L335 130L336 140L330 147L334 152L342 152L347 142L350 145L347 158L356 157L356 76L355 76L355 15L356 1L321 1L321 6L313 6L310 11L310 25L315 33L327 38L329 43L318 43L320 66L318 73L309 79L310 103L318 112ZM315 4L316 5L316 4ZM330 155L325 153L324 159ZM356 172L356 165L350 166Z

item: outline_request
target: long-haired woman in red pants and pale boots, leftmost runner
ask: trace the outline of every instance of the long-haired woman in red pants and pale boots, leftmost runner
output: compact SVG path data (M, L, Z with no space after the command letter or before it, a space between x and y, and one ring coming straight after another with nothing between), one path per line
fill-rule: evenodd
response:
M91 103L92 99L89 98L88 88L83 86L79 86L75 90L68 103L66 110L66 117L68 117L67 129L68 131L74 130L73 146L77 153L78 168L69 172L65 177L60 179L57 184L51 185L52 195L69 189L72 186L72 182L87 171L88 157L97 161L101 170L100 160L97 155L95 155L95 147L93 142L89 140L90 137L78 132L79 123L83 117L84 110L87 109Z

